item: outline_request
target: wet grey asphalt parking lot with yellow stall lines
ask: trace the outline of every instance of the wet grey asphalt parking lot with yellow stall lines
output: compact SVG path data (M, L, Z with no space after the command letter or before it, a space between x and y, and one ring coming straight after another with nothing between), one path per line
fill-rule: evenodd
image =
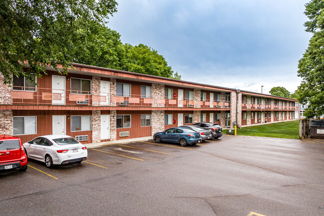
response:
M0 172L0 215L323 216L324 140L227 136L88 149Z

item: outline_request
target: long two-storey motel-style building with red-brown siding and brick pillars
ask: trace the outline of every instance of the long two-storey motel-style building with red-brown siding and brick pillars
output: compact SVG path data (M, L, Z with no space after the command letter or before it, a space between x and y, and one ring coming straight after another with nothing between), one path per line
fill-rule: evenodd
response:
M65 75L48 68L48 75L36 78L37 86L14 77L9 87L0 75L0 134L22 142L66 134L86 144L148 137L200 121L232 128L233 121L242 126L295 118L297 101L290 98L73 66Z

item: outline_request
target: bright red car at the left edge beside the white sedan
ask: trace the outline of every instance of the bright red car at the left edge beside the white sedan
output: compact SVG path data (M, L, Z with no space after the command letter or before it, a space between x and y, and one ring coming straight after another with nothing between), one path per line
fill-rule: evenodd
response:
M27 156L21 140L10 135L0 135L0 171L14 168L27 170Z

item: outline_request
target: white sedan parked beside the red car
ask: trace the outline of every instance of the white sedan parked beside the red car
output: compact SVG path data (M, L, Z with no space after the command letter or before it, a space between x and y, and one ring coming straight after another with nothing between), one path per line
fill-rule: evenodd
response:
M45 162L46 167L81 163L87 160L87 147L66 135L46 135L36 137L23 144L27 158Z

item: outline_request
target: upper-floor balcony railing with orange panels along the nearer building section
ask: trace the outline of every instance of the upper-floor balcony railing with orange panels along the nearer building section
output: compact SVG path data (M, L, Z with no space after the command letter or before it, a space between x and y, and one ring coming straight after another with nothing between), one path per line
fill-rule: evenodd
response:
M6 87L7 88L7 87ZM4 86L0 86L4 89ZM15 87L14 89L18 89ZM61 105L61 106L119 106L119 107L180 107L229 109L229 101L198 101L193 98L152 97L96 91L30 88L30 91L5 90L0 104ZM31 91L35 90L35 91ZM2 91L3 92L3 91Z

